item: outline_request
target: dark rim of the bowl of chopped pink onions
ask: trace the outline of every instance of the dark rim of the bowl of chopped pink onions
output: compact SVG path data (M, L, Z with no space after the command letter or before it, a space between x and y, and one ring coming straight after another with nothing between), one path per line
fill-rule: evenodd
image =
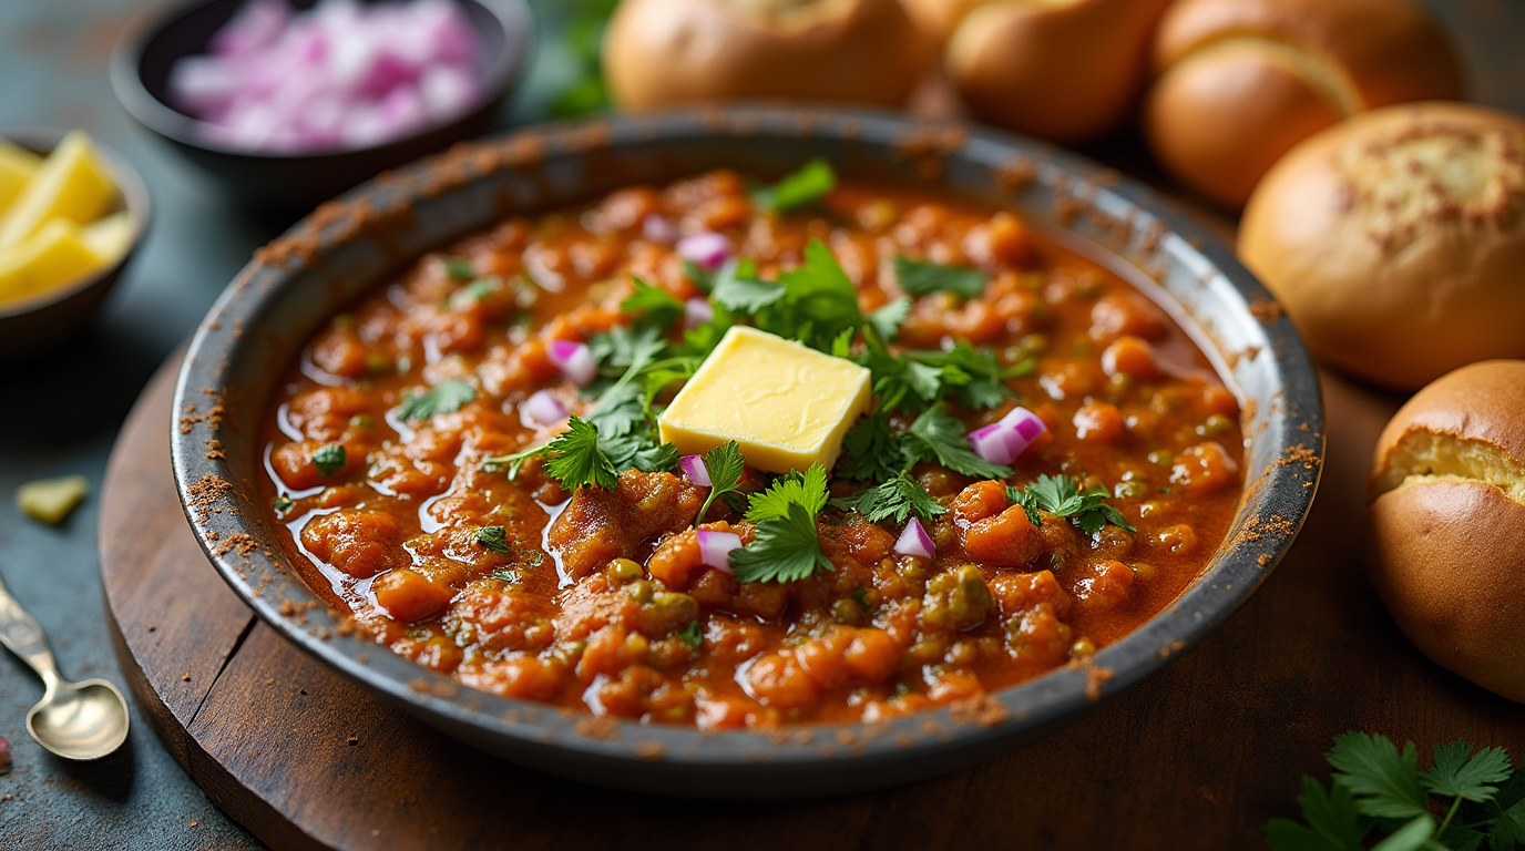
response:
M156 98L154 93L148 90L148 85L143 84L143 76L139 72L143 55L166 29L204 6L227 2L241 5L247 0L183 0L168 9L151 8L134 15L134 18L124 29L122 35L117 37L116 43L111 46L108 76L117 102L122 104L122 108L143 127L188 148L209 151L226 157L242 157L252 162L305 160L322 163L343 157L404 148L432 133L438 133L442 128L451 127L456 122L476 114L479 110L486 108L499 98L512 92L525 75L529 73L538 44L538 24L528 0L453 0L456 3L474 5L490 14L502 27L506 47L515 46L515 34L518 41L517 50L505 49L491 58L482 90L477 92L476 99L471 101L470 105L458 110L445 119L424 124L406 136L374 142L371 145L316 151L252 151L238 148L236 145L212 142L197 133L197 128L206 122ZM285 3L288 0L282 2ZM363 2L371 3L372 0ZM183 53L181 58L192 55L197 53Z

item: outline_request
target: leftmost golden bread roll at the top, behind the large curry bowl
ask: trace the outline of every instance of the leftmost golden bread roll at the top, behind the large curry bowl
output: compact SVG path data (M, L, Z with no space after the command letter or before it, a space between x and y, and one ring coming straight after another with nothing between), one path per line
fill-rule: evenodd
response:
M897 107L927 44L900 0L624 0L604 35L622 110L747 98Z

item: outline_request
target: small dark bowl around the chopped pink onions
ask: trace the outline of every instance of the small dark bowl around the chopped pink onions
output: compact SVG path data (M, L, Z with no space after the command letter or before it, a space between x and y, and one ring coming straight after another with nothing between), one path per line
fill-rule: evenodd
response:
M230 198L262 214L300 214L389 168L480 136L503 98L529 66L534 17L525 0L458 0L480 44L482 93L445 124L366 148L316 153L258 153L221 145L198 133L201 122L168 98L175 61L206 52L212 35L246 0L195 0L165 15L136 21L111 53L111 88L128 114L209 174ZM375 2L375 0L368 0ZM294 0L311 8L314 0Z

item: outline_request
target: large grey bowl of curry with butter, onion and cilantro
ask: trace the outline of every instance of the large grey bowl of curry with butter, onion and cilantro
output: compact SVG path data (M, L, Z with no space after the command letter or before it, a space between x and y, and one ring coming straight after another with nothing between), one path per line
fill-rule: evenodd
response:
M1217 628L1292 544L1292 325L1133 180L743 105L529 128L256 252L180 375L212 564L502 758L709 798L947 772Z

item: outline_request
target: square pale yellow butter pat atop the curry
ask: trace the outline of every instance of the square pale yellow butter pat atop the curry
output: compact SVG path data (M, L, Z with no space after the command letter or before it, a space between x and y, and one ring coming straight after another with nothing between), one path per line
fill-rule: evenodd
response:
M769 473L827 470L868 410L869 371L756 328L732 326L662 412L662 439L682 454L737 441Z

